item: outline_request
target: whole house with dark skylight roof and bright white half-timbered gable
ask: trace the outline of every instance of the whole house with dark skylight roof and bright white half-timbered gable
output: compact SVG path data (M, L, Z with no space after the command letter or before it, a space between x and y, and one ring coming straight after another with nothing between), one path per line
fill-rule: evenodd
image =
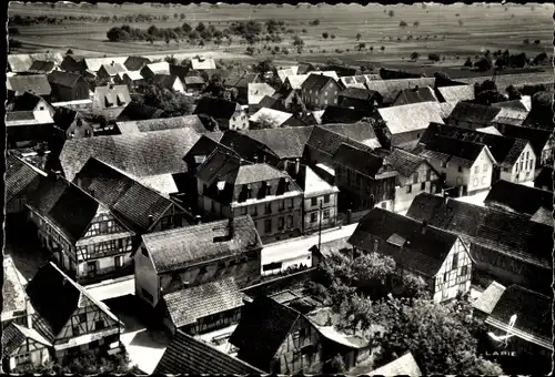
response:
M422 277L436 303L471 291L472 259L466 246L456 234L426 222L376 207L360 221L349 243L392 257L400 277Z

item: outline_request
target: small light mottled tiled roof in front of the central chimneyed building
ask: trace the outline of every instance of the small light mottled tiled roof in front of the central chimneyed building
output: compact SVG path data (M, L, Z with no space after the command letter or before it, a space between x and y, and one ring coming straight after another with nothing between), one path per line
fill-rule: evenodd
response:
M192 325L200 318L243 306L246 295L234 277L183 288L163 296L176 328Z

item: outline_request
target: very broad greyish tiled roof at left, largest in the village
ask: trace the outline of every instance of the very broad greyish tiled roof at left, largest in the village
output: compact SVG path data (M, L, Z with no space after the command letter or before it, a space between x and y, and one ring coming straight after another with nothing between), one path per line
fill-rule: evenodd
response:
M186 171L183 155L199 140L191 129L174 129L137 134L75 137L68 140L60 154L65 176L75 173L94 156L134 176Z

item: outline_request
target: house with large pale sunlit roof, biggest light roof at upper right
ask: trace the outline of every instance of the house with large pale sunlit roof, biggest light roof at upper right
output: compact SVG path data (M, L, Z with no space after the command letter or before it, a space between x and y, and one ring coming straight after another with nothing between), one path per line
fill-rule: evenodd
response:
M418 143L431 122L443 123L438 102L422 102L377 109L385 122L385 135L391 145L411 151ZM382 130L374 130L376 134Z

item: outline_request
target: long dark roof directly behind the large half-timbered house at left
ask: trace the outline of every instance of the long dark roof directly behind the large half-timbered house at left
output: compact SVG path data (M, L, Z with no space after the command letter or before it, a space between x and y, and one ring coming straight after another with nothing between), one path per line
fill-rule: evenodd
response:
M149 216L157 222L174 205L154 190L94 157L83 165L73 183L80 184L137 231L149 230L152 225L149 224Z

